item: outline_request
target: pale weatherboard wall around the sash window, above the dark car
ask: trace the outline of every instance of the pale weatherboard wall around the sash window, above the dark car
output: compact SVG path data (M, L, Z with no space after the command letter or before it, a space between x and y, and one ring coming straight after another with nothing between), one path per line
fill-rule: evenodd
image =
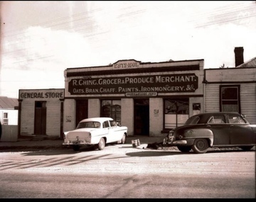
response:
M206 112L220 111L220 86L238 86L240 113L256 124L256 67L206 69Z

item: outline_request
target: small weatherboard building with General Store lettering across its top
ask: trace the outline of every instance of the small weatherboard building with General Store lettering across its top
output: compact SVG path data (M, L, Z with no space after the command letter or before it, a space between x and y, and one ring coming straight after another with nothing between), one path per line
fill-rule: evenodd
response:
M64 89L20 89L18 134L57 137L63 133Z

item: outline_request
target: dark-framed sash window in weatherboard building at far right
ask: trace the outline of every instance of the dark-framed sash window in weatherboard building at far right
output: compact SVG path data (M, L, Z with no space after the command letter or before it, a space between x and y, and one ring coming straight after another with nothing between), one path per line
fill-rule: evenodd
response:
M220 111L240 113L240 86L220 86Z

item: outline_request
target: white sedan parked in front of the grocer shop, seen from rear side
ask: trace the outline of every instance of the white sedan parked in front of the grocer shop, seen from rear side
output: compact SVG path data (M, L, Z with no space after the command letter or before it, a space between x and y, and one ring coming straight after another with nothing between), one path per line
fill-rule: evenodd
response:
M127 138L127 127L118 125L112 118L86 118L78 123L75 130L64 132L63 145L72 145L78 151L82 145L95 145L103 150L107 143L124 144Z

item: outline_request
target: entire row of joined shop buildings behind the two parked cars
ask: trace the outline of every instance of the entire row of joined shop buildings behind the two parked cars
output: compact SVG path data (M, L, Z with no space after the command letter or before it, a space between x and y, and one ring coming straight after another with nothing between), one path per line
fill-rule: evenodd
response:
M256 57L204 69L204 60L118 60L64 71L65 89L20 89L18 135L63 138L84 118L111 117L128 135L165 136L197 113L234 111L256 124Z

